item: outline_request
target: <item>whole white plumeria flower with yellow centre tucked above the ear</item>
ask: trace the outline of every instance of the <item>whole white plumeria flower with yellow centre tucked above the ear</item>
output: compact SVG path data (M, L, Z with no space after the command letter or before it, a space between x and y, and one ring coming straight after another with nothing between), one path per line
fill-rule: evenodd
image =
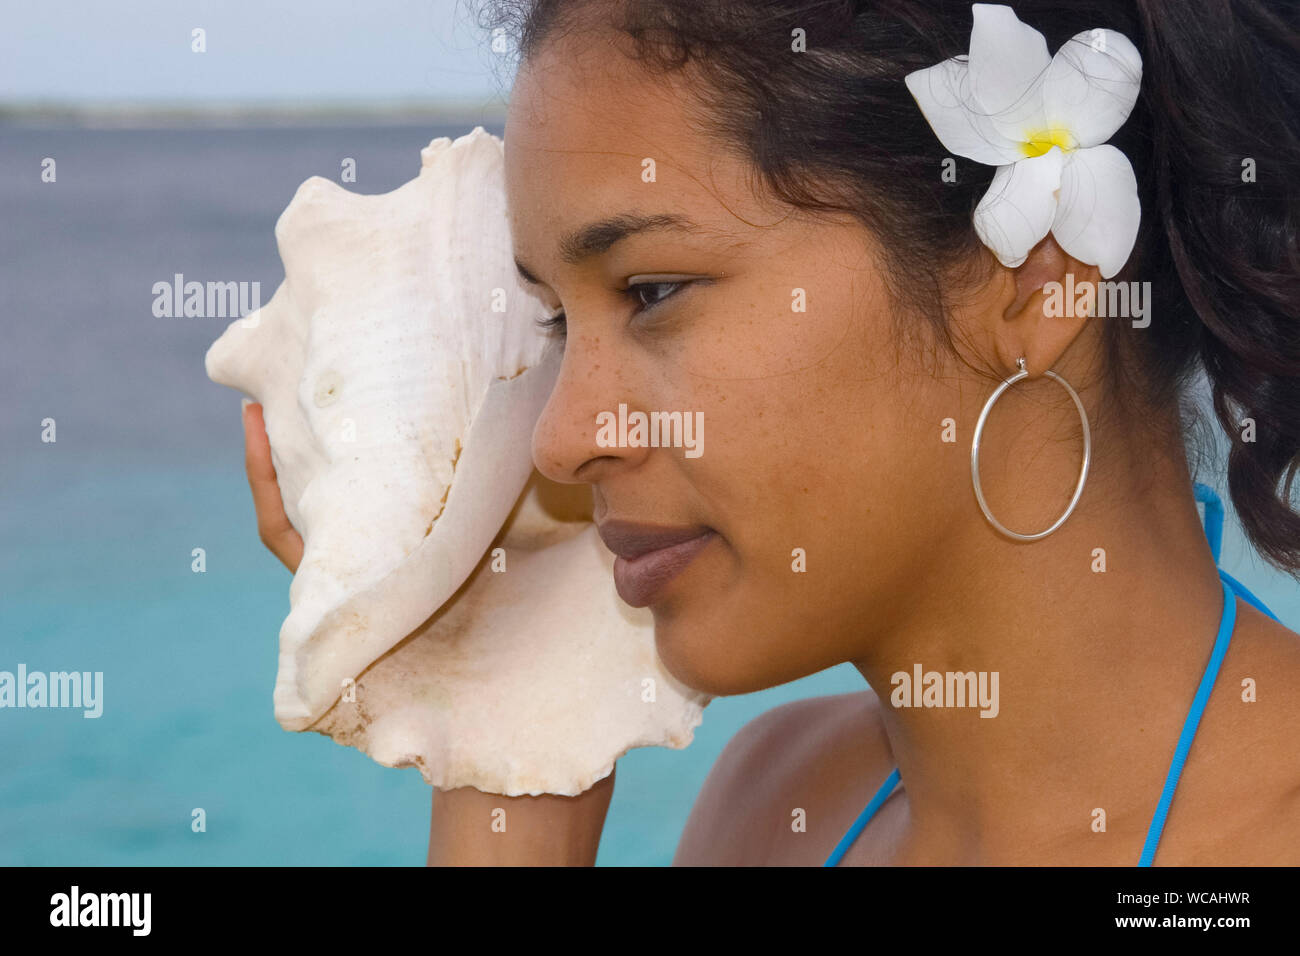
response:
M1009 268L1050 232L1110 278L1132 252L1141 204L1128 157L1102 143L1138 100L1141 55L1123 34L1089 30L1049 57L1010 7L971 13L970 55L906 82L944 148L998 166L975 232Z

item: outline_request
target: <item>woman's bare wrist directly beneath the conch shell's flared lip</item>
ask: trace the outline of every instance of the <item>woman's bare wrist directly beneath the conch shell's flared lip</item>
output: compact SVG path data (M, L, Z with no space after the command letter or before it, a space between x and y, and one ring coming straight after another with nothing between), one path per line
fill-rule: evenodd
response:
M429 866L592 866L614 771L576 797L433 791Z

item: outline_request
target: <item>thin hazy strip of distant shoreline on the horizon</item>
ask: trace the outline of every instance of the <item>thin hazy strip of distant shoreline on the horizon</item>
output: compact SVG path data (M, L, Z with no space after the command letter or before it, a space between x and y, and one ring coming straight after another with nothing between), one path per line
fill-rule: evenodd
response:
M507 104L484 101L384 103L0 103L0 126L168 129L222 126L365 126L472 124L503 126Z

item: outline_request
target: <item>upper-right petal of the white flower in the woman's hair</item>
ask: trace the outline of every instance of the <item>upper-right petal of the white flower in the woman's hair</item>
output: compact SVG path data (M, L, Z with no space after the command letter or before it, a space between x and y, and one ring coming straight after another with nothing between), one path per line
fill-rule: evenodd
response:
M1079 146L1098 146L1114 135L1138 101L1141 53L1114 30L1075 34L1052 57L1043 83L1049 127L1067 129Z

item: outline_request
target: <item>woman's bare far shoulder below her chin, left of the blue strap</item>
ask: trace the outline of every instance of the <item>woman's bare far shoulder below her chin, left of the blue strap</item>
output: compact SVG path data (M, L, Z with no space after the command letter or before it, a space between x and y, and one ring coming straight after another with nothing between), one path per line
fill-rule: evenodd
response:
M871 691L766 710L719 754L673 864L820 862L892 767Z

